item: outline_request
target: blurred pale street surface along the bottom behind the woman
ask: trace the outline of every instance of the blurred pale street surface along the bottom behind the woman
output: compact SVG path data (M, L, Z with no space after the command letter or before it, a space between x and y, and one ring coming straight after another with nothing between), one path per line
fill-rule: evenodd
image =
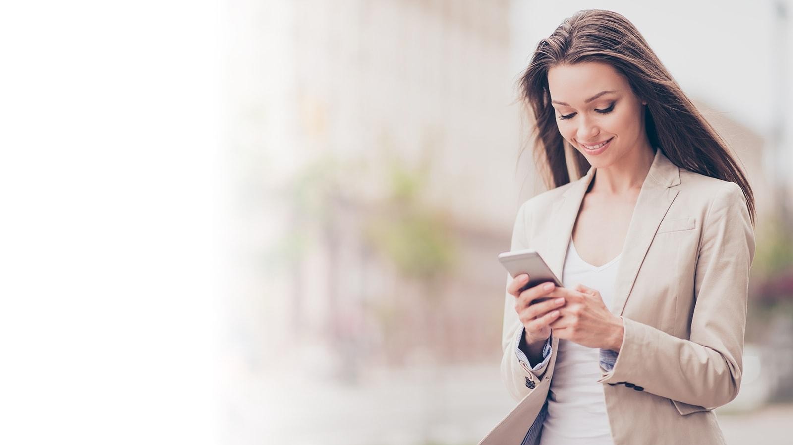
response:
M316 374L228 386L224 443L423 445L477 443L514 406L498 367L412 367L362 376L354 386ZM255 389L255 394L245 390ZM790 443L793 404L750 413L716 409L727 443Z

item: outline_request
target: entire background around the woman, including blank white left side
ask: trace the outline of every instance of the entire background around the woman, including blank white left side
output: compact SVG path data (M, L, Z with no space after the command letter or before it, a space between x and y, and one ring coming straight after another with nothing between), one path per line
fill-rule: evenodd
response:
M496 256L545 190L515 82L595 8L749 175L744 375L716 413L728 443L786 443L790 0L3 5L0 441L477 443L515 406Z

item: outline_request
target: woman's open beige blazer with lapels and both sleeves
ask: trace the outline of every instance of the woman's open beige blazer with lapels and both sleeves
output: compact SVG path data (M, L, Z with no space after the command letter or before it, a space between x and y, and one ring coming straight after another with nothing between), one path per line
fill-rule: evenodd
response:
M537 250L561 278L595 170L523 203L511 249ZM623 344L611 371L592 363L600 369L597 382L616 444L725 443L713 409L733 400L741 386L754 250L741 188L680 169L657 150L630 221L610 308L623 318ZM535 373L515 355L519 329L515 297L505 294L501 378L519 403L483 444L521 443L554 378L559 339L552 334L550 360Z

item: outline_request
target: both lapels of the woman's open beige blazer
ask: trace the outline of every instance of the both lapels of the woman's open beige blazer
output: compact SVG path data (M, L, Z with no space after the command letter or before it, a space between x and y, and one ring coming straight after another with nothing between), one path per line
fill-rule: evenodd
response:
M549 224L556 230L550 230L546 239L538 240L538 252L546 259L548 267L560 280L562 280L565 254L569 247L570 236L573 234L573 226L595 172L596 169L591 167L584 177L570 185L554 203L550 211ZM622 315L625 310L625 304L649 245L653 242L661 220L664 219L669 206L677 196L678 190L673 188L677 184L680 184L680 170L661 153L661 150L656 150L653 164L650 165L642 189L639 191L623 244L610 308L613 314Z

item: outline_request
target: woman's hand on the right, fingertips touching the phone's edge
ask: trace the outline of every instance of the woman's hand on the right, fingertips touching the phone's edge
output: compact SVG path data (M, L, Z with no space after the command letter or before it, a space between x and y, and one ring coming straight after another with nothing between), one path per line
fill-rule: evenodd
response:
M565 299L565 306L557 309L561 316L550 324L554 336L587 348L619 352L623 320L611 314L599 291L578 284L573 289L556 287L547 296Z

